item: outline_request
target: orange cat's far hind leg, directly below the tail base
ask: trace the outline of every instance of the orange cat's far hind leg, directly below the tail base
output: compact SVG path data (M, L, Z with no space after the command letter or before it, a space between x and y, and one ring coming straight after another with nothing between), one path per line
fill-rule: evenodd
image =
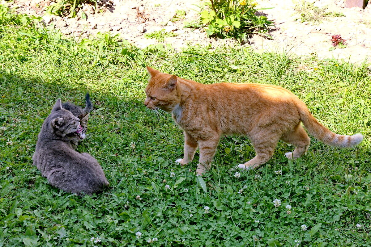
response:
M303 156L308 150L309 144L311 144L311 138L309 138L301 124L298 124L293 131L285 133L281 140L296 146L293 152L285 153L287 158L293 160Z

